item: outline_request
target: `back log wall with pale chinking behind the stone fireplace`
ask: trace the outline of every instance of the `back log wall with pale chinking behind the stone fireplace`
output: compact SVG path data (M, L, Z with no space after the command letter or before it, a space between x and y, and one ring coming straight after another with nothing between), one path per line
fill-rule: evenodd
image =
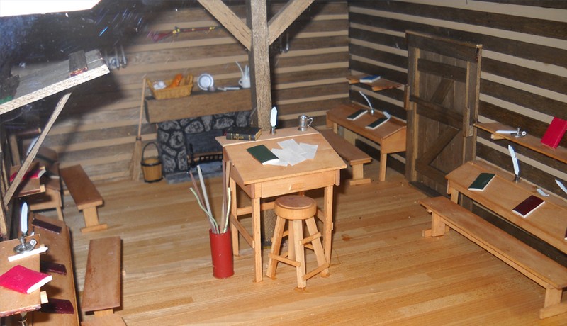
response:
M281 6L271 4L269 18ZM231 8L245 21L245 6ZM147 37L150 32L169 33L176 27L197 30L157 41ZM274 44L270 62L279 128L297 125L297 116L303 113L314 116L316 125L324 125L327 108L349 101L344 78L348 71L346 2L315 1L288 28L288 38L289 50L280 52L279 43ZM160 80L179 72L195 77L208 73L217 86L237 86L240 70L235 62L244 67L248 61L245 47L198 4L153 13L147 30L123 47L128 65L74 89L44 142L59 152L62 166L82 164L93 180L130 177L144 77ZM149 92L146 89L146 95ZM143 118L143 144L155 137L155 125ZM155 154L149 150L146 156Z

